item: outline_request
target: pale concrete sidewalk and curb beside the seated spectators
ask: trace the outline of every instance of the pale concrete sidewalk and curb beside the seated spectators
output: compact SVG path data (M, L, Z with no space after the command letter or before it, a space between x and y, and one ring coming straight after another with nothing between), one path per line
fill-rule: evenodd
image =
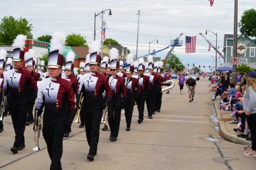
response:
M213 94L212 94L213 95ZM214 101L214 108L216 110L216 115L218 118L218 126L220 128L220 136L222 138L225 138L226 140L229 140L231 142L235 142L238 144L249 144L250 141L246 140L245 138L239 138L237 137L237 132L234 132L234 128L238 128L238 124L230 124L229 122L232 121L234 118L230 116L229 111L223 111L221 112L218 108L218 103L220 100Z

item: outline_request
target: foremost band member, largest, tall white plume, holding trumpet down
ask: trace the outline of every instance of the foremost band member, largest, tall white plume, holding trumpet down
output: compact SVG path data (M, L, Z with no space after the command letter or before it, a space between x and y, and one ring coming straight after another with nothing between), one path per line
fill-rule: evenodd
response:
M62 169L65 110L69 108L75 112L75 94L72 82L62 79L60 76L64 60L61 55L64 43L64 34L58 32L53 34L48 62L49 79L41 81L36 103L38 111L42 110L44 105L42 134L51 158L51 170Z

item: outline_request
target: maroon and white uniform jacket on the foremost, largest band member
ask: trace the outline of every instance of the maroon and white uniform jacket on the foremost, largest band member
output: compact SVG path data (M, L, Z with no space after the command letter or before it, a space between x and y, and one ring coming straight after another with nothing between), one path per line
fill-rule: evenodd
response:
M75 110L75 94L72 89L72 82L57 77L49 77L38 81L36 110L41 110L44 104L46 114L65 114L67 105L70 110Z

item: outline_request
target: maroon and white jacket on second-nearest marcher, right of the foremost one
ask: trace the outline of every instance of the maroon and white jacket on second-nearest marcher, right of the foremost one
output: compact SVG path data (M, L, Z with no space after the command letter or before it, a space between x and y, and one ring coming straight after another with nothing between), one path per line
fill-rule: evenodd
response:
M100 73L87 73L79 78L78 94L84 95L84 105L86 108L94 109L96 107L102 107L103 102L106 104L111 99L111 89L108 84L108 77ZM106 92L105 99L103 99L103 93Z

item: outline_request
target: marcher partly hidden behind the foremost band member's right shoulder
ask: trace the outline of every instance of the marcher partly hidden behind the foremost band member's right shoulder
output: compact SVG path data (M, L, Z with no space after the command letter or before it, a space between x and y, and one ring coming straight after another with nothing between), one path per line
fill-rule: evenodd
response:
M73 69L73 61L75 60L75 54L72 51L69 51L66 56L65 62L65 79L72 82L72 89L75 95L77 95L78 90L78 80L75 78ZM79 104L79 99L76 98L77 105ZM66 119L65 119L65 130L64 130L64 137L67 138L69 133L71 132L71 124L73 119L75 118L75 113L73 110L67 109Z

